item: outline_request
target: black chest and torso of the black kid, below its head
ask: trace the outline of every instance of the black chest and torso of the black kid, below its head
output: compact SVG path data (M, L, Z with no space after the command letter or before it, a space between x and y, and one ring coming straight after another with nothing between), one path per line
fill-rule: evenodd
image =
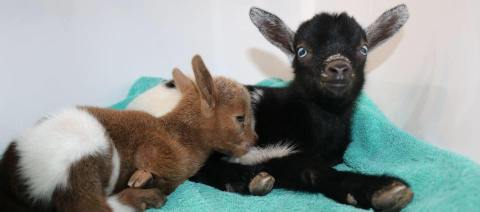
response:
M254 106L260 146L294 141L295 154L319 155L332 165L342 161L350 143L350 108L328 111L289 88L251 88L260 89L263 96Z

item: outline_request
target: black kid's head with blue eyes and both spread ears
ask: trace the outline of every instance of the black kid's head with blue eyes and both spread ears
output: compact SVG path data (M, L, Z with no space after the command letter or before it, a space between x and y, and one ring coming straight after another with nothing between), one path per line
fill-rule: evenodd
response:
M362 28L346 13L321 13L293 32L277 16L252 8L250 18L272 44L293 60L294 82L313 96L356 97L364 84L369 50L394 35L407 21L405 5L384 12Z

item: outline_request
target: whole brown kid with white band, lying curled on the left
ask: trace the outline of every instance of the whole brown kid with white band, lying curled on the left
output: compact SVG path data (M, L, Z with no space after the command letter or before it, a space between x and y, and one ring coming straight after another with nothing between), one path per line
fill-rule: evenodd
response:
M161 207L212 151L245 154L257 138L248 91L212 79L199 56L192 66L196 83L173 71L182 97L162 117L75 107L42 120L8 147L2 186L30 208L144 210ZM143 186L144 174L153 175L148 188L127 187Z

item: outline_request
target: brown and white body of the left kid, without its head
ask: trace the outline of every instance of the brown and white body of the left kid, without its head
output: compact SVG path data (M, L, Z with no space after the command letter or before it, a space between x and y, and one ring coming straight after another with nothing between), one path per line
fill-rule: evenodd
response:
M134 211L116 196L109 198L126 188L134 171L150 169L165 177L155 186L168 194L202 163L189 160L195 156L157 122L143 112L100 108L73 108L46 118L9 146L2 160L2 192L12 207L27 211L119 206ZM155 155L145 154L147 144Z

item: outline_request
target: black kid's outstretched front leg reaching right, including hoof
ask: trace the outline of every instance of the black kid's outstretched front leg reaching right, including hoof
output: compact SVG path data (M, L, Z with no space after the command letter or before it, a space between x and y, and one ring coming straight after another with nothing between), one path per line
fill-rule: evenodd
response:
M397 211L413 198L403 180L391 176L337 171L320 156L294 154L262 164L272 174L275 187L319 192L333 200L360 208Z

